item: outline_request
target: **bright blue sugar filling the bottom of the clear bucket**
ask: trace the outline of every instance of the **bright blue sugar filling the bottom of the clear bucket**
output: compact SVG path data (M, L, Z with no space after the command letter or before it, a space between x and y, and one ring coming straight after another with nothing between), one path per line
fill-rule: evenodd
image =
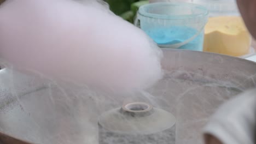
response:
M157 44L177 44L190 39L197 30L185 26L173 26L171 28L154 28L145 31L150 38ZM179 47L179 49L187 49L193 51L202 51L203 49L203 32L201 32L195 39L189 43Z

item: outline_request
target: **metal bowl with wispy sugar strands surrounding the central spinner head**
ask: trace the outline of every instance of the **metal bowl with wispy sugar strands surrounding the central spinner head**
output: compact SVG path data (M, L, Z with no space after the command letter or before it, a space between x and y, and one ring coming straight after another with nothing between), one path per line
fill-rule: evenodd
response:
M0 143L98 143L98 117L134 101L176 117L176 144L202 143L200 130L217 107L255 87L256 63L245 59L168 49L162 65L159 83L125 94L2 69Z

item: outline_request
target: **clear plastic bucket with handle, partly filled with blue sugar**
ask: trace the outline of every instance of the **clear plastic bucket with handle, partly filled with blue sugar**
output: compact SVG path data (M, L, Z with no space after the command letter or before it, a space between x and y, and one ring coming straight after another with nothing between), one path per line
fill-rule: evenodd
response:
M185 2L150 3L139 8L135 25L159 47L202 51L205 7Z

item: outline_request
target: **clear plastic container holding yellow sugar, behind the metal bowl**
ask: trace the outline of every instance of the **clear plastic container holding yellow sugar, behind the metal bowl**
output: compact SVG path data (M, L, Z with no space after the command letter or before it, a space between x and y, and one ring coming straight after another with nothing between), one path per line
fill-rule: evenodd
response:
M235 0L193 0L209 10L203 51L246 57L254 53L251 35Z

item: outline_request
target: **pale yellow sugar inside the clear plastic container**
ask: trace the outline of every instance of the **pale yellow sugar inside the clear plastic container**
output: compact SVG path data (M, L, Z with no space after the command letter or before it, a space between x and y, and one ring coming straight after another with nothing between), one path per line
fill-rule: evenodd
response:
M251 35L241 17L210 17L205 27L203 51L242 56L249 53Z

